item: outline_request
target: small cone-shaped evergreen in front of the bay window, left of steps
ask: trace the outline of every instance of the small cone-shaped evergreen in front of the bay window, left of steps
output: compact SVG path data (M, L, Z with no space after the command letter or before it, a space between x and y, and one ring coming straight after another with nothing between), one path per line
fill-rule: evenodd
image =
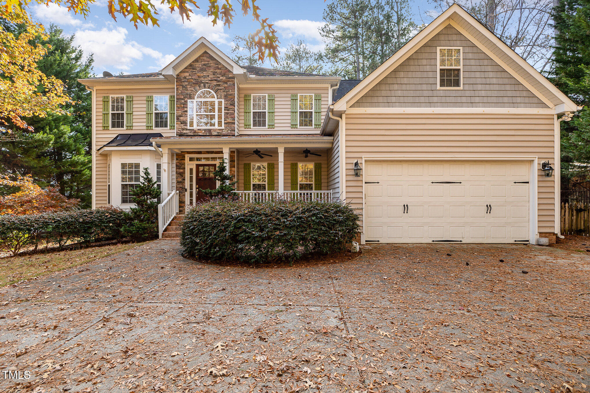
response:
M142 180L130 194L133 195L132 200L136 207L126 214L127 224L123 225L123 233L134 241L156 237L160 190L150 175L149 168L143 168Z

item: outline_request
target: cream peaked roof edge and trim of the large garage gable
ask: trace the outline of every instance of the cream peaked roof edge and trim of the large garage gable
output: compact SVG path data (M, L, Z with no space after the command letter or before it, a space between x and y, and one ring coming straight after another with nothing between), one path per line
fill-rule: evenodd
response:
M476 18L472 17L458 4L453 4L442 12L434 21L428 24L414 38L409 40L402 48L396 51L388 60L383 62L371 74L356 84L344 96L334 104L334 110L346 110L356 100L360 99L376 83L387 74L395 70L418 48L440 32L447 25L465 35L478 48L486 53L492 60L509 72L514 78L539 97L550 108L555 108L556 113L574 112L578 106L562 93L556 86L542 76L539 71L527 63L522 57L504 44L496 35L490 32Z

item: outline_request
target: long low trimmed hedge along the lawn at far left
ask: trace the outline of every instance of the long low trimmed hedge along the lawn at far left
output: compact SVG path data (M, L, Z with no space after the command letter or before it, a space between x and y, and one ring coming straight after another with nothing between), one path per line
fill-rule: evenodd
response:
M22 247L68 241L90 244L120 239L126 215L117 208L98 208L28 215L0 215L0 249L16 255Z

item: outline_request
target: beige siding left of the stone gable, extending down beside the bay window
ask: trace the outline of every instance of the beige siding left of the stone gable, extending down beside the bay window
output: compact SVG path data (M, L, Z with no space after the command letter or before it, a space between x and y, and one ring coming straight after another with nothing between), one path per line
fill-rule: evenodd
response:
M96 149L100 149L117 134L159 132L163 136L173 136L172 129L146 130L146 96L168 96L174 94L174 85L162 87L112 87L96 88L96 113L94 125L96 129ZM103 130L103 96L133 96L133 129ZM113 169L113 168L112 168ZM96 155L96 206L107 204L107 153Z

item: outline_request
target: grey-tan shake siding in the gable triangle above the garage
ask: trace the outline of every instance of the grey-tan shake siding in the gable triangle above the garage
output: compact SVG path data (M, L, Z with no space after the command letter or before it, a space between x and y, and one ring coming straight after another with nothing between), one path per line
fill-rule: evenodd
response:
M463 48L463 89L437 89L437 47ZM352 107L547 108L535 94L448 25Z

